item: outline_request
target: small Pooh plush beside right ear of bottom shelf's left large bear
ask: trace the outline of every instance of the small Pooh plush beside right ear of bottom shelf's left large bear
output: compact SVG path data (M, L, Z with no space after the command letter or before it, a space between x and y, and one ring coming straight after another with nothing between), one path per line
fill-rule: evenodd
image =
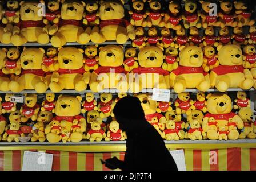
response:
M85 94L85 101L82 102L82 107L81 113L86 113L86 111L90 110L98 110L97 100L95 100L93 93L88 92Z

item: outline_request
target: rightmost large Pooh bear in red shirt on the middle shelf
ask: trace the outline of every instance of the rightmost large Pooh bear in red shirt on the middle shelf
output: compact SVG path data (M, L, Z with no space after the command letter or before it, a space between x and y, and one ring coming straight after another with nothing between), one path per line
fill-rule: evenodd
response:
M218 52L219 66L210 72L211 87L225 92L228 88L250 89L253 75L244 69L242 50L236 45L226 45Z

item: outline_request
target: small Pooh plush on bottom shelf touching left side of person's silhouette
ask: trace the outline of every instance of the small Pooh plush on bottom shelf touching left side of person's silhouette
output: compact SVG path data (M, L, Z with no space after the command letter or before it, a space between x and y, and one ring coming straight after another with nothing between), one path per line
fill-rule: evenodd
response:
M122 130L119 129L119 123L117 121L111 121L109 125L109 131L105 137L105 141L123 141L125 137L123 136Z

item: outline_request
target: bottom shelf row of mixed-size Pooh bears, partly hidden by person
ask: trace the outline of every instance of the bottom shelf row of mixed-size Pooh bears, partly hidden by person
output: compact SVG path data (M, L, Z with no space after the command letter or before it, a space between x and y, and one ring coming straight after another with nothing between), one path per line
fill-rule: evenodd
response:
M37 95L26 94L25 104L17 110L15 104L10 102L11 94L6 94L1 113L8 112L10 115L8 123L1 115L0 139L19 142L28 137L31 142L44 142L47 139L51 143L61 140L64 143L79 142L82 139L91 142L125 140L126 133L119 129L112 113L118 100L125 96L119 93L117 98L113 98L110 93L102 93L97 102L93 93L86 93L83 102L81 96L65 95L60 95L56 101L54 94L49 93L40 106ZM245 92L237 93L233 106L225 93L206 96L204 92L198 92L196 100L191 100L190 94L183 92L178 94L174 105L171 102L153 101L149 94L134 96L142 102L145 119L163 139L256 138L256 122L253 121L253 110ZM81 113L86 113L86 118ZM187 115L186 120L182 114ZM103 119L108 117L112 117L111 122L104 122Z

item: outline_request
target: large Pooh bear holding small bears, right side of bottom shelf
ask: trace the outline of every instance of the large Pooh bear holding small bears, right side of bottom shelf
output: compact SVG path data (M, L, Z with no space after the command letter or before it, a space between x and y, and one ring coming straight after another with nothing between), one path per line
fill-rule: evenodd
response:
M237 123L238 129L243 128L242 119L232 111L231 99L227 94L224 93L210 93L206 97L207 100L207 111L208 113L203 118L202 129L207 133L207 137L211 140L218 139L218 133L215 130L209 130L209 118L213 117L217 121L218 125L228 125L229 119L233 118L234 122ZM230 140L238 139L239 133L237 130L229 132L227 137Z

